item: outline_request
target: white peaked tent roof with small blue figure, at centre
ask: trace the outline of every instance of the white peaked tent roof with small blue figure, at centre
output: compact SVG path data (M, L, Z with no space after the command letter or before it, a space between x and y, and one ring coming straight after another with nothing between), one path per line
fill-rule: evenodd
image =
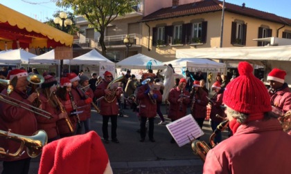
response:
M139 53L119 61L116 68L164 70L165 66L163 62Z

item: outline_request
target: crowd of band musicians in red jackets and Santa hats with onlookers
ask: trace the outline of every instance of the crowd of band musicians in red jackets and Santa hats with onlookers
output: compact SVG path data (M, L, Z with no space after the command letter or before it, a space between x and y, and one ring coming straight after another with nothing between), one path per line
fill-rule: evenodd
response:
M202 128L207 108L211 110L210 124L213 132L221 122L229 120L229 139L222 141L221 133L215 132L214 143L218 145L206 155L204 172L243 173L243 169L254 166L256 162L262 165L266 163L265 160L251 156L252 153L248 151L254 151L252 148L265 159L272 157L267 164L290 155L280 149L287 149L291 145L288 135L291 134L290 117L284 117L291 114L291 93L285 83L284 70L275 68L269 73L267 80L270 81L270 90L267 90L260 79L254 77L252 66L248 63L241 62L238 71L239 76L231 81L226 75L218 74L211 91L206 88L201 72L195 73L195 76L186 72L186 77L176 79L176 84L167 92L164 90L164 77L159 74L160 71L155 74L148 70L141 80L136 79L130 70L118 80L114 80L109 71L99 76L95 72L91 73L91 78L84 73L77 75L71 72L61 77L59 85L53 73L45 72L39 75L37 71L28 72L24 69L9 70L7 74L0 71L1 79L12 81L17 78L12 92L8 93L7 88L2 88L1 96L17 99L15 103L25 103L30 108L27 110L1 100L0 130L26 136L33 135L37 130L44 130L48 136L48 144L57 144L60 139L91 131L91 108L96 104L100 108L99 114L103 117L104 144L109 144L110 141L119 143L118 115L123 117L121 110L127 107L132 108L139 117L139 141L145 142L148 133L149 141L155 142L155 117L159 115L159 125L167 124L160 110L166 92L166 102L169 104L168 118L171 122L186 116L189 110ZM34 90L31 86L31 75L41 76L37 76L41 83L37 84ZM114 86L113 82L118 83L118 86ZM40 114L31 112L35 109ZM109 119L111 131L108 131ZM170 143L175 143L174 138L169 140ZM275 145L278 141L283 143ZM271 145L267 145L267 150L264 151L264 148L260 148L261 144ZM0 148L13 152L17 151L19 144L7 139L3 141L1 138ZM275 153L271 153L273 151ZM7 155L1 157L1 160L2 173L28 173L30 157L26 153L17 158ZM271 166L268 167L270 171L279 170ZM279 171L284 173L285 170L283 167ZM256 165L256 171L263 172L267 169ZM254 169L249 167L247 173L254 173Z

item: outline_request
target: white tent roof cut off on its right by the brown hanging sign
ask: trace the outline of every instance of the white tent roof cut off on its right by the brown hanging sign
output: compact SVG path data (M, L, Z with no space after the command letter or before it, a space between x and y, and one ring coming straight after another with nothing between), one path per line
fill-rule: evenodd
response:
M59 64L59 60L55 60L55 50L50 50L42 55L31 57L28 63Z

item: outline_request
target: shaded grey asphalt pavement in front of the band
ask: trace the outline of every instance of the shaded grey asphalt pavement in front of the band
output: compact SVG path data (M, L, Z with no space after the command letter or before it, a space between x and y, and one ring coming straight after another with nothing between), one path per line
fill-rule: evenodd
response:
M170 119L166 115L166 106L161 106L166 122ZM132 109L123 110L124 117L118 117L117 138L120 143L111 142L104 144L109 155L110 164L114 173L202 173L203 162L200 157L193 154L191 144L182 147L171 144L172 138L165 125L158 125L159 116L155 118L154 137L156 142L150 142L148 137L145 142L139 142L139 121ZM111 126L109 124L109 135ZM102 116L92 110L91 129L102 138ZM212 133L209 121L204 122L204 135L200 140L209 142ZM222 133L222 138L227 138L227 132ZM37 173L40 157L35 157L30 162L30 174ZM2 163L0 162L0 171Z

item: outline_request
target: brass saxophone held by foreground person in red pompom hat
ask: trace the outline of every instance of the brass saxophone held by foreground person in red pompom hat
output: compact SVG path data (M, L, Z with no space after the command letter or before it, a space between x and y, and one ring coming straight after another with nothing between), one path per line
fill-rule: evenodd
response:
M192 141L191 147L192 147L193 153L195 155L199 155L200 158L201 158L201 160L203 162L205 162L206 155L209 152L209 150L211 148L214 148L216 146L216 144L214 143L214 137L215 137L215 135L217 135L219 132L224 131L224 129L227 128L228 124L229 124L229 120L227 119L224 122L221 122L217 126L217 128L215 129L215 131L209 137L209 143L210 143L211 147L208 144L206 144L206 142L202 142L202 141L197 140L197 139L194 139Z

